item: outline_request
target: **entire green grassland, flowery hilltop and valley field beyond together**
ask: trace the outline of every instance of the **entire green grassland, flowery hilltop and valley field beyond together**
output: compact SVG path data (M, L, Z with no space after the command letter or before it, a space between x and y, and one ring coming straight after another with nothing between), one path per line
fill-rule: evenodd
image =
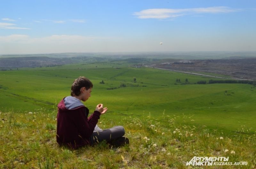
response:
M123 125L129 146L58 146L56 105L78 76L94 85L85 105L108 107L100 128ZM255 87L195 84L210 79L123 62L0 71L0 168L186 168L193 156L229 157L254 168Z

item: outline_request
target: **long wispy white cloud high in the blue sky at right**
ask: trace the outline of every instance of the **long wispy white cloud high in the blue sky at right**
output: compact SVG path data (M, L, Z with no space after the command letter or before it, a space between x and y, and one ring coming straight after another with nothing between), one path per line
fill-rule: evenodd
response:
M186 8L186 9L147 9L139 12L134 12L133 15L136 15L138 18L147 19L147 18L156 18L156 19L165 19L165 18L177 18L184 15L194 15L198 13L228 13L235 12L238 9L231 9L225 6L218 7L208 7L208 8Z

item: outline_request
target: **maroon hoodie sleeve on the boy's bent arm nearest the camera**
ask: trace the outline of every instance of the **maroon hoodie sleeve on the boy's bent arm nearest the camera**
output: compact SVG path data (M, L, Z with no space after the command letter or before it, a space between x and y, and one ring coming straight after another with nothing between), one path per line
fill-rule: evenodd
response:
M90 121L88 121L86 116L86 109L79 109L74 115L74 119L76 119L75 124L82 138L89 138L92 135L92 132L98 123L98 119L100 118L100 112L94 111L90 116ZM79 136L80 137L80 136Z

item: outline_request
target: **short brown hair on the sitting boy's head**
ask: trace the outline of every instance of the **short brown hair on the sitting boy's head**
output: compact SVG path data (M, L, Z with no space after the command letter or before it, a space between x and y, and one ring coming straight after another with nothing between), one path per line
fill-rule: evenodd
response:
M86 90L92 88L92 82L84 76L77 78L71 86L71 96L79 96L81 94L80 89L85 87Z

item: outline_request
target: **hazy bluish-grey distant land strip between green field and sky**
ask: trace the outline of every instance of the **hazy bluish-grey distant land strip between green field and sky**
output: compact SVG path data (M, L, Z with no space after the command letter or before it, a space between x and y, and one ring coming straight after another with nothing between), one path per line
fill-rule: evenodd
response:
M254 52L191 53L53 53L35 55L2 55L0 70L21 67L52 67L75 63L126 61L134 65L226 75L231 78L255 79ZM152 67L152 66L151 66Z

